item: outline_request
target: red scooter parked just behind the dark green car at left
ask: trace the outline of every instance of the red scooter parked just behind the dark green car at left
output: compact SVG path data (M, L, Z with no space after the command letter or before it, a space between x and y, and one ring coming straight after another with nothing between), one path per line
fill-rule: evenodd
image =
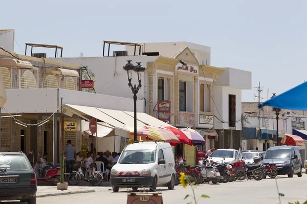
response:
M52 185L57 185L57 183L60 182L60 167L52 168L51 166L47 166L43 168L41 162L38 160L35 163L33 170L36 174L37 181L48 181Z

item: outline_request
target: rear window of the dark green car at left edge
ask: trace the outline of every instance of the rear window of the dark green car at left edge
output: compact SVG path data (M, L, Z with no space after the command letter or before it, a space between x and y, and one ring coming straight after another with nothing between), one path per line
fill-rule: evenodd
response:
M23 155L0 155L0 170L6 171L28 170L28 165Z

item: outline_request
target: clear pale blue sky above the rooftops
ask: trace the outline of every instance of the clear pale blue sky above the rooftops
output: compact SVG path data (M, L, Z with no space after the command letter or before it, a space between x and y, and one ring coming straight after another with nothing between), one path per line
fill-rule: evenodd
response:
M77 57L101 56L103 40L189 41L211 47L212 66L251 71L252 87L264 86L263 98L268 88L271 97L307 80L303 0L18 2L1 3L0 29L15 29L19 54L26 42L57 44L64 57ZM254 93L243 91L242 100L253 102Z

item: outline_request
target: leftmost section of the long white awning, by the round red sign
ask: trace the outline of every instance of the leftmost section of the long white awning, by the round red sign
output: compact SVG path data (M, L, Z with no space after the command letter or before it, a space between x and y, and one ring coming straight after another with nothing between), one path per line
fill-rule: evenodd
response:
M77 111L80 112L81 115L87 115L87 116L91 116L93 118L96 118L100 121L103 121L109 125L111 125L115 132L114 135L108 135L107 137L111 137L111 136L122 136L125 138L131 138L131 136L129 135L129 131L125 128L125 124L117 121L116 119L104 114L102 111L98 110L95 107L89 107L89 106L80 106L80 105L70 105L70 104L65 104L65 106L69 107L69 108L73 108ZM99 132L98 132L99 134Z

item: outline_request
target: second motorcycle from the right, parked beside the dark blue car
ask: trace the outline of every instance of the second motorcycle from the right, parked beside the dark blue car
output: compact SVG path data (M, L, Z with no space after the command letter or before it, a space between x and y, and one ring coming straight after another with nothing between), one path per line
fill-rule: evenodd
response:
M261 180L265 177L265 166L262 164L259 156L254 157L253 160L254 163L245 165L247 179Z

